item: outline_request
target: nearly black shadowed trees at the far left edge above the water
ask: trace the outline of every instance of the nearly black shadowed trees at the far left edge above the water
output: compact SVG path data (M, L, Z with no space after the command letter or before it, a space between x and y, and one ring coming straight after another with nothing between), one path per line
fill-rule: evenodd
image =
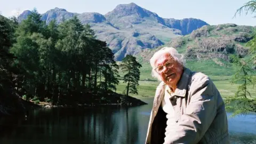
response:
M0 15L0 117L25 114L25 107L14 89L19 69L12 66L15 57L9 52L15 43L14 30L17 24L17 19L9 20Z

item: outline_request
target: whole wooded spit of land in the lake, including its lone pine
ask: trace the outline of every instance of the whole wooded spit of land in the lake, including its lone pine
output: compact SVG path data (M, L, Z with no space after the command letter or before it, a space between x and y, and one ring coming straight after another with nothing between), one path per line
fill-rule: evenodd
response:
M126 55L117 65L106 42L77 17L46 25L34 10L21 22L0 15L0 26L0 115L26 115L33 108L147 104L129 96L138 94L141 65L135 57ZM127 72L123 77L120 69ZM127 83L126 94L114 92L120 79Z

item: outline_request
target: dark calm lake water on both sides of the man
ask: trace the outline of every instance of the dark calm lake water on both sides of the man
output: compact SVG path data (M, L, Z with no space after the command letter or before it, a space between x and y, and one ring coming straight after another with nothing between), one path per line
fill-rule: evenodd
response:
M0 143L144 143L149 105L31 111L27 120L1 119ZM229 118L232 143L256 143L256 115Z

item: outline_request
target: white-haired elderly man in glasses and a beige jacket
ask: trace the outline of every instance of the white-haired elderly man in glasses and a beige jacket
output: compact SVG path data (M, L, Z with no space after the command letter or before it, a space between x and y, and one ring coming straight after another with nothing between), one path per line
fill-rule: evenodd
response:
M211 79L184 66L183 57L164 47L150 59L155 93L146 143L230 143L227 114Z

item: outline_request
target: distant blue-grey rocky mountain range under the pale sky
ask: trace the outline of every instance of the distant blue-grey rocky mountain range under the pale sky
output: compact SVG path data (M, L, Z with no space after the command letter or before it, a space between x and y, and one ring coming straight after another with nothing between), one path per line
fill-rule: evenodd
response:
M19 21L26 19L30 13L21 13ZM83 24L89 23L98 39L107 42L116 60L122 60L126 54L138 54L146 48L154 49L174 37L190 34L195 29L209 25L194 18L161 18L135 3L117 5L105 15L97 12L71 13L55 7L43 13L42 20L49 23L55 19L60 23L75 15Z

